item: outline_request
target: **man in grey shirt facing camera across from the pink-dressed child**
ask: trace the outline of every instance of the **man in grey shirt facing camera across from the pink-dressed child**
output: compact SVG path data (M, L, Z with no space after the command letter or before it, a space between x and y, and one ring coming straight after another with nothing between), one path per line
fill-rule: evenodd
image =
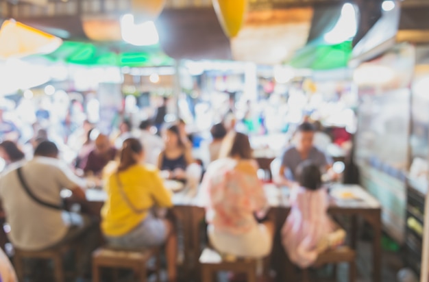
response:
M282 166L278 177L278 184L293 187L295 185L295 171L299 164L310 159L319 166L321 172L328 172L332 161L313 145L315 127L310 123L302 123L295 133L296 145L286 149L282 157Z

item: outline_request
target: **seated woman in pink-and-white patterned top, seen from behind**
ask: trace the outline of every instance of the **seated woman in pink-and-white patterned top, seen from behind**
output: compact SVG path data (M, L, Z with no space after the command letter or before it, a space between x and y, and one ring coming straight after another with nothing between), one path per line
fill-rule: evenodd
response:
M232 144L228 141L201 184L210 242L223 254L262 258L271 252L274 227L272 222L258 224L255 218L263 218L268 207L258 165L245 134L235 133Z

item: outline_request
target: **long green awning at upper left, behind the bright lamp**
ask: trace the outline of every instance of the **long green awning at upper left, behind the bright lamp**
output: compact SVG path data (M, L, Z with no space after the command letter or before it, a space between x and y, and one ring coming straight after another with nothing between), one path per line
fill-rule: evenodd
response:
M52 61L84 66L170 66L173 59L158 45L137 47L123 42L94 44L66 41L53 53L44 55Z

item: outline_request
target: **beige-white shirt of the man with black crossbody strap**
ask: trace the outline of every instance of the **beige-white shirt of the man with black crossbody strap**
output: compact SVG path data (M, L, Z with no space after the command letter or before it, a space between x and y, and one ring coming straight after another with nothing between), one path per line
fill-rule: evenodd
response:
M21 164L22 165L22 164ZM13 166L0 177L0 198L17 248L36 251L60 242L71 225L71 214L44 207L25 192ZM59 159L34 157L22 166L23 178L40 200L61 205L60 191L84 187L81 179Z

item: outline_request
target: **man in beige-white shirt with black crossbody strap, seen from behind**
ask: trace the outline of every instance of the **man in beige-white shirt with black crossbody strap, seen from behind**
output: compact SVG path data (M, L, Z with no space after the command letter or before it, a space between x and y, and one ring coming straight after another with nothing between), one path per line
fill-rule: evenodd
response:
M82 240L77 261L79 277L90 272L90 254L95 249L95 222L87 216L62 210L61 190L85 201L82 188L86 183L76 177L69 166L58 159L58 147L43 141L34 158L12 168L0 177L0 201L11 231L14 247L23 251L41 251Z

